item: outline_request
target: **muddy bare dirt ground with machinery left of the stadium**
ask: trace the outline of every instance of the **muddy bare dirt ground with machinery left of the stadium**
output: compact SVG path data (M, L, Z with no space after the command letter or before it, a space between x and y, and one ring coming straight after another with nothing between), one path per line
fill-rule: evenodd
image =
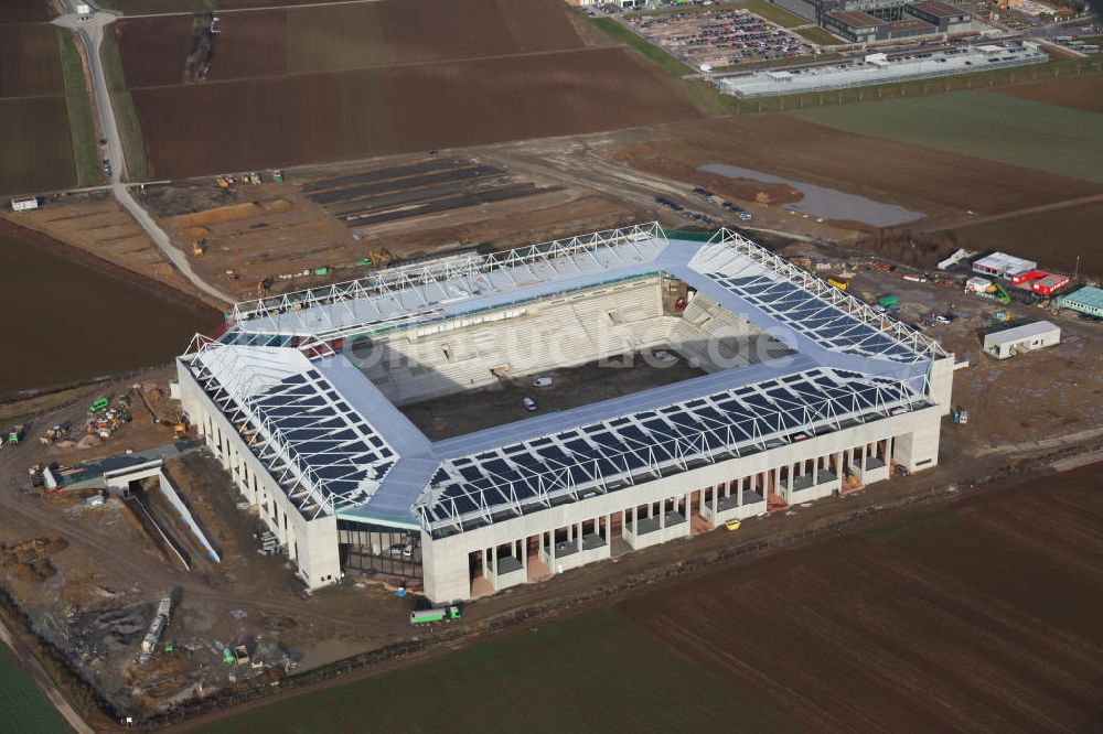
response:
M92 396L109 391L101 387L85 392L79 402L41 417L35 427L82 421ZM0 563L4 585L32 614L36 633L69 650L82 674L96 680L119 711L149 713L176 695L194 694L200 690L196 686L210 691L235 680L277 674L269 667L260 672L227 668L221 661L219 645L246 644L267 666L278 667L285 657L320 665L386 644L406 632L408 604L395 602L392 609L394 605L386 601L392 594L377 585L350 579L341 589L313 598L301 596L286 559L257 555L258 522L237 509L235 496L225 490L225 473L210 456L186 456L170 464L168 472L222 551L222 562L207 559L174 519L175 512L150 492L154 517L190 550L191 571L153 542L133 509L121 500L113 498L92 508L83 501L87 493L42 495L19 488L25 485L30 463L69 465L117 454L124 447L141 450L172 441L171 428L151 425L148 420L136 415L135 423L87 449L82 444L42 447L32 433L26 445L0 454L6 475L0 487L4 506L0 543L12 546L40 537L56 541L33 564ZM9 483L8 477L15 481ZM176 651L136 665L137 646L152 608L170 594L178 602L163 639ZM362 607L376 607L382 614L376 618ZM315 645L320 650L313 649Z

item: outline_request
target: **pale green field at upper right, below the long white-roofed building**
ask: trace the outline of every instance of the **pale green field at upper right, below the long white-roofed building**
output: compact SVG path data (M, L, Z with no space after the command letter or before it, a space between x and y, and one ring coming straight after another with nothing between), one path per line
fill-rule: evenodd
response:
M1103 115L992 91L791 112L848 132L1103 183Z

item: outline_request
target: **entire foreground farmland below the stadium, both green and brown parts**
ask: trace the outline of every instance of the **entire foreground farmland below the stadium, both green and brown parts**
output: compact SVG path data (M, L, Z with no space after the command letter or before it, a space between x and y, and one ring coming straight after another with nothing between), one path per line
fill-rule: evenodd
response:
M726 562L194 731L341 730L366 710L395 731L1091 731L1097 472Z

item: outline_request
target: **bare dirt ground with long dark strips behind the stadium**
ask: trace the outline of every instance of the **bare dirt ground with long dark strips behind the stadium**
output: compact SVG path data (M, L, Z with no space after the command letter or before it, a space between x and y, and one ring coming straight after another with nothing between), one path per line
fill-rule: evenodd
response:
M479 159L443 153L396 155L286 171L283 184L263 171L269 183L232 190L213 179L150 186L147 202L196 271L243 299L255 296L263 279L271 279L277 293L362 277L371 271L357 263L381 250L404 260L520 246L632 219L625 206L591 190L524 170L499 166L440 184L404 173L426 165L443 173L488 169ZM520 191L497 194L512 188ZM196 241L205 246L202 256L194 255ZM317 277L318 268L328 274Z

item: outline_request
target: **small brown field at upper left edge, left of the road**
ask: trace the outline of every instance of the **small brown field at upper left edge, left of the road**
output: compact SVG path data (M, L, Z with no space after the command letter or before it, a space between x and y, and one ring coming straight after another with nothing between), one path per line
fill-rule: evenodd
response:
M65 91L52 25L0 25L0 97Z

